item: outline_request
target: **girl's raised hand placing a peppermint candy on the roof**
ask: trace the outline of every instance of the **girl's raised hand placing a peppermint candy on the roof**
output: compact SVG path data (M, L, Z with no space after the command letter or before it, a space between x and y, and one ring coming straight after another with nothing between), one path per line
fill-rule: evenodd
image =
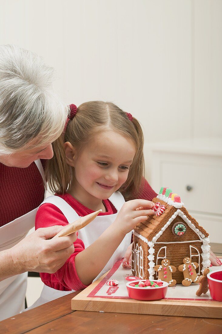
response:
M133 199L124 203L115 220L117 228L125 235L137 224L146 221L147 216L155 214L154 203L146 199Z

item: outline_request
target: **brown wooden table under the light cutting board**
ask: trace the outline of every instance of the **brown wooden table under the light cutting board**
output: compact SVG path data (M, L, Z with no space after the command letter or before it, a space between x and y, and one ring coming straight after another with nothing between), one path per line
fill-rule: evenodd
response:
M221 254L221 245L215 253ZM71 299L77 294L74 292L1 321L0 334L139 334L151 330L164 334L222 333L221 319L72 311Z

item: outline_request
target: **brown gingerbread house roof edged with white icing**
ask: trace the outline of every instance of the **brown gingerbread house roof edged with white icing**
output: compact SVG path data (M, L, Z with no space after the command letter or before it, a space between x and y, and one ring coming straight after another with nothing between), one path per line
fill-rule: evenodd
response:
M167 204L166 201L163 201L157 197L153 199L153 202L154 203L160 202L161 205L165 206L165 211L160 216L157 216L156 214L154 214L153 216L149 216L146 221L138 224L134 228L135 232L145 237L148 241L151 241L157 235L157 233L159 233L161 229L164 228L169 219L178 210L178 208L174 207L173 205ZM190 224L194 225L193 228L196 233L198 233L199 235L201 234L202 238L209 236L209 234L205 231L205 229L198 224L196 219L194 219L189 214L189 212L184 206L180 207L179 210L186 216L186 219L190 221Z

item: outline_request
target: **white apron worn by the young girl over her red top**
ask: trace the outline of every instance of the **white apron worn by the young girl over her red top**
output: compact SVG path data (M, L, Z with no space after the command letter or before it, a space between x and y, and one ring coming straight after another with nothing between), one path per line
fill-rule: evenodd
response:
M87 226L83 227L78 231L78 238L81 239L85 245L85 248L87 248L89 245L91 245L98 237L109 227L114 220L116 219L120 209L122 208L123 204L125 203L125 199L123 195L118 191L115 192L112 196L109 198L110 202L113 203L115 208L117 209L117 213L110 214L106 216L97 216L94 220L91 221ZM47 197L42 204L44 203L51 203L57 206L64 216L66 217L67 221L69 223L72 223L73 221L77 220L79 218L79 215L75 212L75 210L61 197L58 196L50 196ZM115 233L115 231L114 231ZM103 268L103 270L99 273L99 275L95 278L99 278L104 273L106 273L109 269L113 267L115 262L121 258L124 257L127 247L131 244L131 236L132 232L128 233L121 244L118 246L116 251L114 252L113 256L110 258L106 266ZM95 281L94 280L94 281ZM55 290L53 288L50 288L46 285L44 285L41 296L39 299L28 309L37 307L39 305L42 305L44 303L50 302L54 299L57 299L59 297L65 296L69 293L74 292L72 291L59 291ZM26 309L26 310L28 310ZM25 311L26 311L25 310Z

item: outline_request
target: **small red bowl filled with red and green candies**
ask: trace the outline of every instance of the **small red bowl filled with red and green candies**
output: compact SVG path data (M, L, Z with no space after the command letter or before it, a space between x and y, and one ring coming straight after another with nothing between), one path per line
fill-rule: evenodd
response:
M140 280L141 282L146 282L146 280ZM160 282L155 281L153 282ZM167 294L168 283L163 282L162 287L158 288L140 288L140 287L132 287L130 284L138 284L139 281L131 281L127 283L127 292L130 298L136 300L158 300L163 299Z

